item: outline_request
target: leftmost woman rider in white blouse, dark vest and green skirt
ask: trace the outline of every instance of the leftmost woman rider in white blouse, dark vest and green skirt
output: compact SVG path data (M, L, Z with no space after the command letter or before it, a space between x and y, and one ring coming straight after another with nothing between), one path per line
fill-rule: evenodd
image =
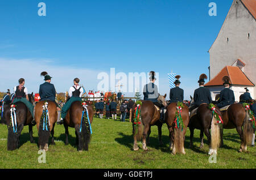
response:
M34 118L34 106L31 104L28 98L27 88L24 87L25 80L23 78L19 79L19 85L14 87L14 100L13 103L23 102L28 110L30 111L32 117Z

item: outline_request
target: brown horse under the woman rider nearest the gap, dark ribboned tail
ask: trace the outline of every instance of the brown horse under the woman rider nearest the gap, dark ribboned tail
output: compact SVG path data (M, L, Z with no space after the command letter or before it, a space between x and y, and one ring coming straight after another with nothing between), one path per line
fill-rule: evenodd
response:
M93 121L93 108L92 105L86 105L86 107L88 109L88 117L91 124ZM89 122L84 121L85 119L82 117L84 110L85 107L81 105L81 101L74 101L64 118L65 145L68 145L68 127L75 127L77 151L82 151L82 149L88 151L90 142ZM86 116L86 112L84 113Z

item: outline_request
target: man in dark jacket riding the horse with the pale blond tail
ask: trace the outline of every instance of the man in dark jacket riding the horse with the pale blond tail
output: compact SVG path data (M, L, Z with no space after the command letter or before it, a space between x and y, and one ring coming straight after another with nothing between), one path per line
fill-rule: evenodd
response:
M199 77L199 81L197 82L199 83L200 87L197 88L194 92L193 98L195 102L193 103L191 108L189 108L190 111L198 108L203 103L210 104L212 102L212 97L210 97L209 89L204 87L205 79L207 79L207 75L201 74Z

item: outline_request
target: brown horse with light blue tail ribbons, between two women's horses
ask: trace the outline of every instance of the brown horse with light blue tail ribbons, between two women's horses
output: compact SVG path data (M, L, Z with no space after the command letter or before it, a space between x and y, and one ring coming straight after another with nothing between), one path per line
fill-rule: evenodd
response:
M43 106L47 104L48 115L43 114ZM54 126L57 121L57 109L56 104L53 101L39 101L35 105L35 122L38 128L38 145L39 149L48 151L48 140L50 134L52 135L51 144L55 145L54 142ZM44 118L45 117L45 121ZM48 119L49 118L49 119Z

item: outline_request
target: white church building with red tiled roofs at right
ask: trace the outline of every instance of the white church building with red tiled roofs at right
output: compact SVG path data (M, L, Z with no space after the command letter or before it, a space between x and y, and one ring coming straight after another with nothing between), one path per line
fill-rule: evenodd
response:
M209 49L209 79L213 100L229 76L236 101L249 89L256 98L256 0L234 0L216 40Z

